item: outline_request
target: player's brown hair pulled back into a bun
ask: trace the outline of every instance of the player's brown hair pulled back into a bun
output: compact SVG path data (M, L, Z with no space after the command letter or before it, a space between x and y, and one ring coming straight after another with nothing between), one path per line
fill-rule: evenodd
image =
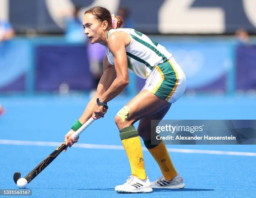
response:
M87 14L87 13L91 13L92 15L94 15L94 17L97 20L99 20L100 22L103 22L105 20L108 21L107 30L110 30L113 28L112 27L112 17L111 17L110 12L108 11L108 9L100 7L100 6L95 6L93 8L90 8L89 10L86 10L84 14ZM121 25L123 24L123 20L119 16L115 16L115 18L118 19L116 28L120 28Z

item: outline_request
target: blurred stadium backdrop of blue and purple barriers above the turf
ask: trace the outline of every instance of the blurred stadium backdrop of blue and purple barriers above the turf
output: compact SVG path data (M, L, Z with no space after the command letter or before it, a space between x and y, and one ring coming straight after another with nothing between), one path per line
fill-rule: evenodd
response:
M164 45L187 76L187 95L256 93L253 0L1 0L0 20L8 21L16 35L0 43L0 94L86 93L95 88L82 28L77 33L67 22L72 16L68 12L77 8L82 20L84 10L95 5L111 13L125 8L125 27ZM143 80L131 78L126 95L143 86Z

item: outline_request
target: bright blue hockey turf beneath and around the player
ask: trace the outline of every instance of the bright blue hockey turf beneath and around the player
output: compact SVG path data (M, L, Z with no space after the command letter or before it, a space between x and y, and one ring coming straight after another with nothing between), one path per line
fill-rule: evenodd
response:
M0 118L0 140L62 142L84 110L87 96L0 97L7 113ZM256 119L256 98L207 96L181 98L165 119ZM113 121L128 102L109 103L105 118L95 121L79 143L121 145ZM58 143L55 143L58 145ZM57 146L0 143L0 189L16 189L13 173L26 176ZM256 153L255 145L168 145L168 148ZM143 152L153 181L161 172L151 155ZM33 197L256 197L256 156L170 153L186 184L181 190L154 190L150 194L117 194L130 167L124 150L69 148L28 184Z

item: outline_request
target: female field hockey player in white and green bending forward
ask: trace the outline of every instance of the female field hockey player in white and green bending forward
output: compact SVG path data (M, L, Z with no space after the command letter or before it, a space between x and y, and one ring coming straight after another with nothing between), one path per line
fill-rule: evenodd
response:
M89 118L103 118L104 105L121 93L129 83L128 70L146 84L138 95L115 116L115 123L131 165L132 175L126 183L115 187L118 193L149 193L152 188L183 188L182 177L176 172L164 142L151 145L151 120L161 120L184 93L186 78L172 54L146 35L128 28L120 28L120 17L110 15L106 8L93 7L84 13L84 33L92 44L104 45L107 54L103 61L104 73L97 93L90 100L82 116L65 136L66 145L77 142L71 135ZM138 129L133 124L140 120ZM161 169L162 176L149 181L144 169L140 138ZM156 139L156 138L155 138ZM66 150L65 150L66 151Z

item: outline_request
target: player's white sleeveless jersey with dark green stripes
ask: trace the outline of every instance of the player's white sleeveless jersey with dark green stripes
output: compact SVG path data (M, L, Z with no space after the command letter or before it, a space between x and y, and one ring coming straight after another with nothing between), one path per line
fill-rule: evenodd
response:
M148 38L146 35L130 28L111 29L110 34L121 31L131 37L131 43L125 48L128 62L128 70L141 78L147 78L156 65L164 63L172 57L162 45ZM107 57L110 64L114 65L113 54L106 47Z

